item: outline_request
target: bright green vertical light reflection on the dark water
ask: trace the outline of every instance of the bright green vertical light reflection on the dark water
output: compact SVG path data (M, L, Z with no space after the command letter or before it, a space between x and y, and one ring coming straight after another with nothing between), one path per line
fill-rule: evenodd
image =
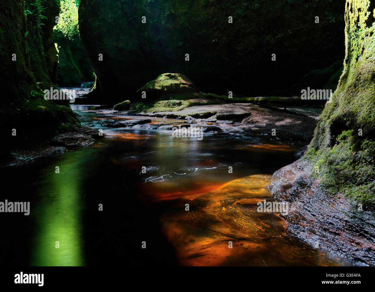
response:
M86 162L99 148L69 151L43 170L40 207L36 210L38 228L31 251L32 266L82 266L83 179ZM55 173L55 166L60 173ZM55 248L56 241L60 247Z

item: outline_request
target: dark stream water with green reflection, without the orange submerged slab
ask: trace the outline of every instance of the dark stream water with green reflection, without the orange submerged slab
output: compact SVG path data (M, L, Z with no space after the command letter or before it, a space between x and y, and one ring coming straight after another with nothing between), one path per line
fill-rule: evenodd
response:
M79 113L98 121L130 118ZM105 138L94 146L1 169L8 190L2 201L29 201L31 209L29 216L0 213L6 222L1 265L181 263L160 220L176 200L194 199L237 178L272 174L296 160L294 151L308 143L285 133L274 137L270 129L220 127L224 132L204 133L202 140L138 126L97 127ZM140 248L142 241L147 249Z

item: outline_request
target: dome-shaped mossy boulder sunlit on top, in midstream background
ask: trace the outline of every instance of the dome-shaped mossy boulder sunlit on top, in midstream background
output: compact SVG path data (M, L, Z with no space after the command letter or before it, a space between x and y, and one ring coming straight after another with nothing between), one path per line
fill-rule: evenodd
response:
M195 92L195 87L185 75L164 73L139 89L137 91L139 98L141 98L142 92L146 93L146 98L157 98L171 93Z

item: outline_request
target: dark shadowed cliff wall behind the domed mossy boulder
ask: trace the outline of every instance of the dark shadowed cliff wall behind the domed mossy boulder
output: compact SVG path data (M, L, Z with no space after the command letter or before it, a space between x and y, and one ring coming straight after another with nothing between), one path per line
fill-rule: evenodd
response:
M82 0L78 13L97 87L114 104L124 100L123 91L134 99L136 90L165 72L184 74L198 90L213 93L288 89L344 57L338 54L344 51L344 3Z

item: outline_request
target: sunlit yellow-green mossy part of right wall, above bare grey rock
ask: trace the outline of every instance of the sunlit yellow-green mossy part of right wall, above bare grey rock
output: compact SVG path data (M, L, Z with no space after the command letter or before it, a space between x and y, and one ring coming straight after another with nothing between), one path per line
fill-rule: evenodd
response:
M371 209L375 209L374 9L374 0L346 4L344 72L307 155L332 193L347 194Z

